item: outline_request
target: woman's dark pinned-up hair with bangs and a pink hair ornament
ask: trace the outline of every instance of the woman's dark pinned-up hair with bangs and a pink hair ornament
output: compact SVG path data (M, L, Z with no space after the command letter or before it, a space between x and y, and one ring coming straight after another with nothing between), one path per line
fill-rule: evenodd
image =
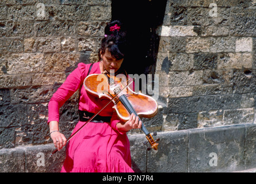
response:
M119 26L119 29L112 30L112 26ZM118 21L111 21L105 27L105 36L101 40L101 48L98 52L101 60L100 52L105 53L106 49L117 60L123 59L127 50L127 40L124 25Z

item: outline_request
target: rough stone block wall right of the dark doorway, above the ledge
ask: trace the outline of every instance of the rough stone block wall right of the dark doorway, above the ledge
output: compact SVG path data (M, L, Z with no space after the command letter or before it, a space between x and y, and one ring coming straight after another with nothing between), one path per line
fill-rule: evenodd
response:
M167 1L162 131L255 123L255 1Z

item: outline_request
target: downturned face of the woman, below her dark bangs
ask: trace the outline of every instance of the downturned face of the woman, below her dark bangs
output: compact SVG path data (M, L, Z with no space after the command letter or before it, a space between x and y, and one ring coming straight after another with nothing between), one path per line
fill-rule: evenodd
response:
M110 70L114 70L114 72L117 72L117 70L119 70L124 60L124 59L116 60L116 58L114 58L111 55L108 49L106 49L105 53L103 54L101 52L101 58L102 58L103 69L108 72L110 72Z

